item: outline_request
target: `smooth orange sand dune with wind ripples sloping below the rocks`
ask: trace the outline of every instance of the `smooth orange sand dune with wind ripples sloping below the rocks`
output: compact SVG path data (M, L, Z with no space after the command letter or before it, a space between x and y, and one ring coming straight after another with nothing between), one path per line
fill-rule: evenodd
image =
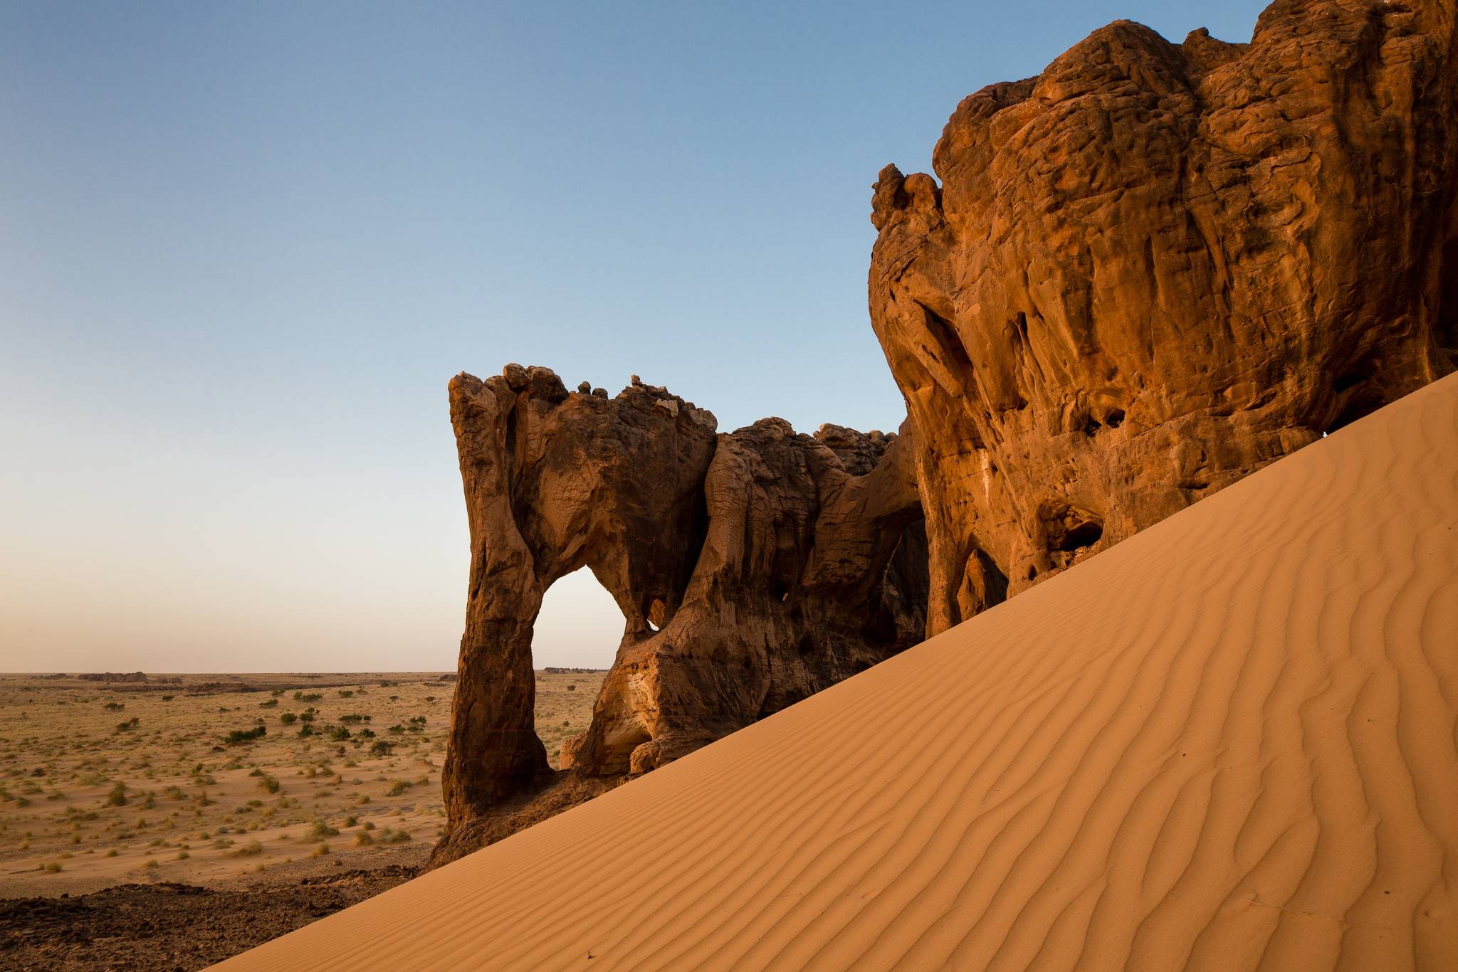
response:
M1458 969L1458 376L226 969Z

